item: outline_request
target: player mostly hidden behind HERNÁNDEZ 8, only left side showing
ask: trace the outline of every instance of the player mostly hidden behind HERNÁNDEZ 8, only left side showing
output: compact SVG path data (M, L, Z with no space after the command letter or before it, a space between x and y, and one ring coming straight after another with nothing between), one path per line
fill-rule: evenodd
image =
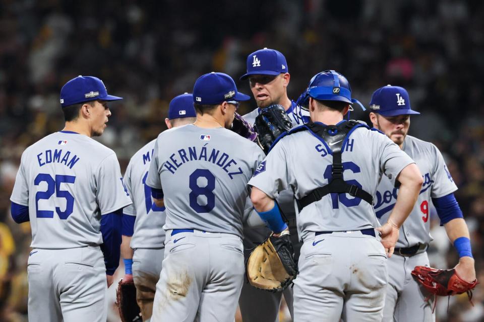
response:
M165 123L170 129L193 123L196 116L192 94L185 93L171 100ZM146 184L155 141L152 140L133 155L124 177L133 205L123 210L123 282L134 279L136 298L144 321L151 317L153 311L156 283L164 257L164 207L153 203L151 189Z

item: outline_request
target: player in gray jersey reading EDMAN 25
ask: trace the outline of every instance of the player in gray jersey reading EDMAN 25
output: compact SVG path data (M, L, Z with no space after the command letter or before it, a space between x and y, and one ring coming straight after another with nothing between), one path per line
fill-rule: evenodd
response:
M10 199L14 220L32 227L29 321L106 321L131 200L116 154L91 137L106 128L107 103L120 99L97 77L71 79L61 90L64 129L22 154Z

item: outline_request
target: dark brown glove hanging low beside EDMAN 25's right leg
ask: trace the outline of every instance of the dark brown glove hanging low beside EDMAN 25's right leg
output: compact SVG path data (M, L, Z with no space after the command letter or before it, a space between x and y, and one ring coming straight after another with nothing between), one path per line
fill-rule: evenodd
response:
M123 322L141 321L140 307L136 302L136 287L133 281L119 281L116 289L116 305Z

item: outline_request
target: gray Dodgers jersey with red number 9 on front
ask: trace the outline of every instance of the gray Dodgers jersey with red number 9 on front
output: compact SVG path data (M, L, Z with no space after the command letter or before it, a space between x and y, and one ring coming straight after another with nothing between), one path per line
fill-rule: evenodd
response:
M396 248L429 244L432 240L429 220L432 198L440 198L457 190L444 158L434 144L407 135L403 151L415 160L423 176L423 185L415 206L400 228ZM375 211L380 222L387 221L395 206L397 193L398 189L388 179L382 178L375 197Z

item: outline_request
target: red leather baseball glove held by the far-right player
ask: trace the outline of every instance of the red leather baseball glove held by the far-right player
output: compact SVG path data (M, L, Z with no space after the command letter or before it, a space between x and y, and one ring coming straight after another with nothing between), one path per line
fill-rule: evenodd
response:
M472 289L477 285L477 279L468 283L461 279L455 269L439 270L432 267L416 266L412 275L430 293L440 296L467 293L472 299Z

